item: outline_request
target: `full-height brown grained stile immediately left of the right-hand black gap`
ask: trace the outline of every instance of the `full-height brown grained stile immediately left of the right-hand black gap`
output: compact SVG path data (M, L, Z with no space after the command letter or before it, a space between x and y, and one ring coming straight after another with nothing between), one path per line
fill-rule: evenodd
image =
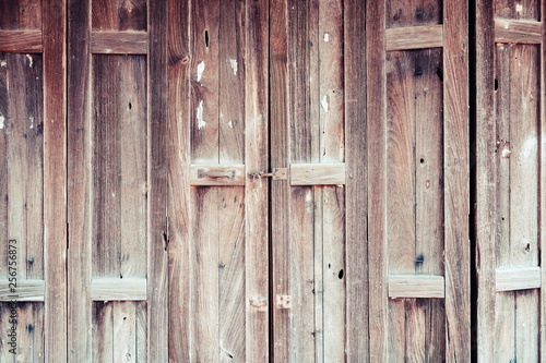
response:
M477 2L479 3L479 1ZM467 29L468 2L444 2L443 137L447 141L443 154L446 361L470 361L471 359ZM480 28L478 27L478 29ZM492 51L492 43L482 44L482 41L483 39L479 39L476 44L479 46L490 46L490 53ZM492 64L487 66L492 68ZM487 80L489 82L492 81L490 75ZM490 85L487 85L486 89L490 90ZM490 100L492 100L491 96L489 96ZM488 123L490 121L492 120L484 120L483 122ZM482 276L479 278L482 279ZM491 301L494 302L494 299Z

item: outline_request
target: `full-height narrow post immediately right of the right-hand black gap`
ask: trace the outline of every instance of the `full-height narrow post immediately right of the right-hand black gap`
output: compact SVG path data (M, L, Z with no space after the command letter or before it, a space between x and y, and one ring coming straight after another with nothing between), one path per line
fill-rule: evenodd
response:
M476 1L476 274L477 358L495 360L495 234L489 211L496 208L495 33L491 1ZM447 120L446 120L447 122ZM449 199L447 199L449 201Z

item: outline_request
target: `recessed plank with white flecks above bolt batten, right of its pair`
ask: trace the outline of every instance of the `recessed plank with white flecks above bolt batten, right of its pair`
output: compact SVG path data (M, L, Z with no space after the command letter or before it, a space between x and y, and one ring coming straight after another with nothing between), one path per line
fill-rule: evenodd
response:
M245 160L245 2L219 4L219 161Z

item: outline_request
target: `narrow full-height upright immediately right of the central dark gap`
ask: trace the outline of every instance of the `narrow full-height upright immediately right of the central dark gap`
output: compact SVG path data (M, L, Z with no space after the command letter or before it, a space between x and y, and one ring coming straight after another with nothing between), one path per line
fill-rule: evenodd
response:
M288 167L287 1L270 1L270 150L271 168ZM289 294L289 183L271 183L271 289L270 299ZM316 288L317 291L317 288ZM272 361L286 362L289 354L290 310L276 304L270 311Z

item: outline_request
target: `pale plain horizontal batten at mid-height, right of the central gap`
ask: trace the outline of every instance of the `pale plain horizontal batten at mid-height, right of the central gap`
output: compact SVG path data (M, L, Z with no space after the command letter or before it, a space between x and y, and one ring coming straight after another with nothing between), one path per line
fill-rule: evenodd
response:
M290 185L344 185L345 164L293 164Z

